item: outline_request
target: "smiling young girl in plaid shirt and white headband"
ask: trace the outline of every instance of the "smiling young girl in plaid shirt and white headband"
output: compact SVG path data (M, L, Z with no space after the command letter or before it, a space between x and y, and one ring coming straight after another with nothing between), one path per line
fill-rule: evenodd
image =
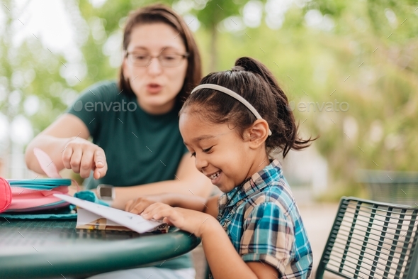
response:
M312 141L298 137L287 105L271 72L252 58L204 77L180 111L180 131L196 168L225 194L143 197L126 209L200 237L214 278L310 278L303 221L281 165L269 158Z

